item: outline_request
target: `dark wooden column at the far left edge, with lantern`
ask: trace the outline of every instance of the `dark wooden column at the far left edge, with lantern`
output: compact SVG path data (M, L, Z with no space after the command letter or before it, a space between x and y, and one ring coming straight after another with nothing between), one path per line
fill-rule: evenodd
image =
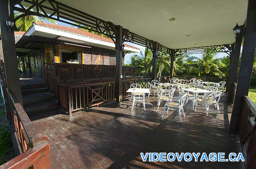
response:
M20 89L20 77L18 71L18 59L16 55L16 46L14 40L14 30L9 32L6 25L6 19L13 19L12 5L8 5L8 0L0 0L0 30L1 30L1 59L5 67L5 76L7 88L22 104L22 95Z

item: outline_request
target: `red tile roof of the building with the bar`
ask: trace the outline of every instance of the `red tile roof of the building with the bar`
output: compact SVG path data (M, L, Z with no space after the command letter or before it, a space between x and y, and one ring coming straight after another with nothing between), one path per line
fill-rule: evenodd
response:
M61 26L61 25L56 25L56 24L47 24L47 23L42 23L42 22L34 22L34 23L36 25L40 25L40 26L44 26L44 27L48 27L48 28L52 28L52 29L58 29L58 30L62 30L62 31L76 33L78 35L83 35L83 36L92 37L94 39L98 39L98 40L101 40L101 41L106 41L106 42L114 43L112 41L112 39L109 39L107 37L103 37L103 36L100 36L100 35L97 35L97 34L94 34L94 33L90 33L88 31L84 31L84 30L81 30L81 29L70 28L68 26ZM15 32L15 33L18 33L18 32ZM19 34L21 34L21 32ZM134 46L131 46L131 45L128 45L128 44L124 44L124 46L140 50L140 48L134 47Z

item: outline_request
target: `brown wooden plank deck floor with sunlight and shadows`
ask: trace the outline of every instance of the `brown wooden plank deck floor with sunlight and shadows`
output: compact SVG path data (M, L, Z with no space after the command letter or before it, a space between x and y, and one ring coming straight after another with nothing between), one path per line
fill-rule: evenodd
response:
M142 162L140 152L240 152L237 136L228 133L230 106L221 98L220 116L209 116L189 103L181 124L177 112L160 118L156 97L146 98L146 111L129 99L120 104L95 107L73 116L55 115L33 121L49 137L53 169L67 168L174 168L242 169L242 162Z

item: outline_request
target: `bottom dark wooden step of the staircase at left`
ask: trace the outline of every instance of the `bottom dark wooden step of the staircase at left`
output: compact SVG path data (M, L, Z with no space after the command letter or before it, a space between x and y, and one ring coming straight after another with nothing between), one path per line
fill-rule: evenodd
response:
M49 102L41 102L38 104L32 104L29 106L24 106L24 110L28 115L40 114L40 112L49 112L59 108L58 100L53 100Z

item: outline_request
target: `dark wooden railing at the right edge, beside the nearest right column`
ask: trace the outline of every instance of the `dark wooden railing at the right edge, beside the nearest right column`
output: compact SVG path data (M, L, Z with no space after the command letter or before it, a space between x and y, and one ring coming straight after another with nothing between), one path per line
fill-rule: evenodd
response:
M244 105L239 124L239 137L246 169L256 168L256 105L248 96L244 96Z

